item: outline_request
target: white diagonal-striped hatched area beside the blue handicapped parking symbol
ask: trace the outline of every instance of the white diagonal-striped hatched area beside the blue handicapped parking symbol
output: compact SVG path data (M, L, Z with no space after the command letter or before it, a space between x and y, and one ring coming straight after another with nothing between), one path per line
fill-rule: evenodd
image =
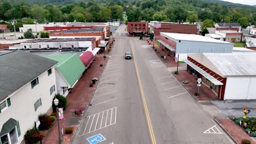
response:
M106 128L117 122L117 107L90 115L85 125L84 133L89 134L96 130Z

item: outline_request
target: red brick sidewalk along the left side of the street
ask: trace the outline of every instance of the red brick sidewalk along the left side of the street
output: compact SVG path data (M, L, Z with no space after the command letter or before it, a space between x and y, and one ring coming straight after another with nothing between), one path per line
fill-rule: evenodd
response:
M96 87L96 85L89 87L91 79L94 77L100 78L108 58L106 58L104 61L103 57L96 57L95 60L96 61L93 62L92 67L88 69L87 73L83 75L78 81L77 85L75 85L73 89L74 91L67 95L67 109L64 111L65 119L60 119L60 125L61 128L63 128L64 133L66 127L74 127L74 130L78 127L79 120L82 118L82 116L76 116L73 114L73 112L77 109L86 109L86 106L88 105ZM103 64L103 67L100 67L100 64ZM56 120L54 121L53 127L51 127L48 131L45 131L45 137L42 141L43 143L59 142ZM74 133L75 132L73 132L73 134ZM72 137L72 134L64 134L63 143L69 143Z

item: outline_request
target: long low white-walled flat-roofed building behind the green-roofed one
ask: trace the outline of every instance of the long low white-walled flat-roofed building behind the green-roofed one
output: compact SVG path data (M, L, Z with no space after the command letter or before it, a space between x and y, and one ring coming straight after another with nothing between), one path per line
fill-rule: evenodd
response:
M32 39L20 43L19 49L86 50L95 49L96 38ZM17 48L17 46L15 46ZM11 49L11 47L10 47Z

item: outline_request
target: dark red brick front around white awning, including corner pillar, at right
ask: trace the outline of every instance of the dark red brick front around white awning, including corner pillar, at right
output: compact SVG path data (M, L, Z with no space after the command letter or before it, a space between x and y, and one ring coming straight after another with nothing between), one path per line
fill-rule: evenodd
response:
M226 78L223 78L222 76L214 73L211 69L208 69L207 67L205 67L205 65L202 65L201 63L195 61L193 58L188 56L188 60L192 63L194 63L195 65L197 65L197 67L200 67L201 69L203 69L204 71L206 71L206 73L210 74L211 76L213 76L215 79L219 80L220 82L223 83L223 86L219 86L219 91L218 91L218 98L220 100L224 100L224 94L225 94L225 88L226 88ZM188 69L187 69L188 70Z

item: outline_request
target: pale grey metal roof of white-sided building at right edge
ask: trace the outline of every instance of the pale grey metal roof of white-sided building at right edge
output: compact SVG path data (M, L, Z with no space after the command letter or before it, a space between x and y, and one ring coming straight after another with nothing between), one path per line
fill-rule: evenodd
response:
M224 76L256 76L256 53L202 53L202 55Z

